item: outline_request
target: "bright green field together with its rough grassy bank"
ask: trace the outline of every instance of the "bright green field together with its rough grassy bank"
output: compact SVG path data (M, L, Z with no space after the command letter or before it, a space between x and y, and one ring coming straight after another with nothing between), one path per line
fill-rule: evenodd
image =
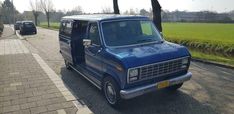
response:
M234 56L234 24L164 23L163 30L169 41Z

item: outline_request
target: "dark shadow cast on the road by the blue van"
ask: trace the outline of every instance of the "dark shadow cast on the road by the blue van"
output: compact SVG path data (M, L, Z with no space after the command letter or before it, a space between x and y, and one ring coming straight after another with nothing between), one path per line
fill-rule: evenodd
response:
M118 109L107 104L95 86L75 71L61 68L61 78L77 97L87 105L94 114L215 114L215 110L189 96L177 91L156 91L131 100L124 101Z

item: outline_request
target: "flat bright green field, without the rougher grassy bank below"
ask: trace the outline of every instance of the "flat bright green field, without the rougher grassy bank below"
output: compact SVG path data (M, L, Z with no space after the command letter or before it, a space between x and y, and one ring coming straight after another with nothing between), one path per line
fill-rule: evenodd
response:
M234 44L234 24L163 23L163 30L168 39Z

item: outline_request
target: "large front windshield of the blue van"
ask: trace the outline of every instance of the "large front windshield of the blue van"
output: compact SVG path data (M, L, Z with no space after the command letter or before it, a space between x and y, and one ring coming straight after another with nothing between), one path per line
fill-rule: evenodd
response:
M107 46L126 46L163 41L151 21L112 21L102 24Z

